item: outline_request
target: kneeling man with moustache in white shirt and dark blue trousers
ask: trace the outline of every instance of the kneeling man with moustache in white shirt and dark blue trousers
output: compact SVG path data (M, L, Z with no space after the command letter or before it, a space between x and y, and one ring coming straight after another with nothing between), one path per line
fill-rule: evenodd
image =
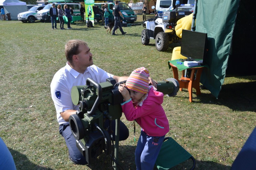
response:
M72 103L71 89L73 86L85 85L88 77L97 83L105 82L109 77L113 77L117 82L124 81L127 77L114 76L93 65L93 54L87 43L82 40L69 40L65 45L65 55L68 62L53 76L50 85L51 97L56 108L59 133L64 137L69 149L69 160L75 164L85 165L86 158L76 147L76 140L69 126L69 116L76 114L76 110L79 110L79 105L75 106ZM156 86L153 79L150 78L150 82ZM112 121L111 126L115 134L115 121ZM104 127L110 130L108 121L105 121ZM120 140L125 140L128 136L129 130L120 121Z

